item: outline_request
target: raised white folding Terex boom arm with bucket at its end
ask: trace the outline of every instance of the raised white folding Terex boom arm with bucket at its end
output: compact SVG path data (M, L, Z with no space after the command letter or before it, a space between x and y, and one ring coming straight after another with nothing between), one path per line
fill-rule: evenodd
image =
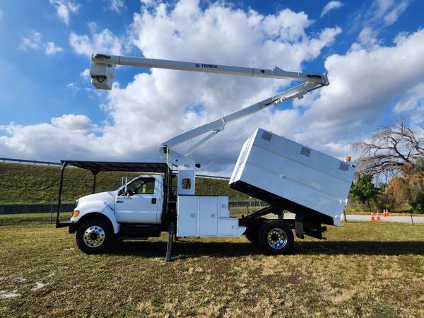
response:
M302 98L311 90L315 90L322 86L329 85L329 81L325 73L301 73L284 71L274 66L273 69L254 69L240 66L226 66L218 64L204 64L186 61L170 61L163 59L146 59L142 57L121 57L115 55L93 54L90 61L90 76L92 83L96 88L111 89L114 76L115 65L141 66L159 69L176 69L182 71L198 71L204 73L220 73L240 76L257 76L264 78L281 78L294 81L303 81L304 83L294 86L279 93L271 98L262 100L253 105L249 105L240 110L221 117L213 122L204 124L190 131L184 132L179 136L175 136L163 142L160 145L159 155L167 159L169 165L177 165L188 169L196 167L195 161L189 157L197 148L213 138L218 132L223 131L226 124L235 122L237 119L254 114L272 105L278 105L286 100L294 98ZM207 134L209 133L209 134ZM194 144L184 154L173 151L175 147L185 141L192 140L196 137L207 134L203 139Z

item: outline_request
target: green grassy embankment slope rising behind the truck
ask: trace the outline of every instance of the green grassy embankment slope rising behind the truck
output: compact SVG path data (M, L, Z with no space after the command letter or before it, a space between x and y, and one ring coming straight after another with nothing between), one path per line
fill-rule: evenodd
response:
M135 173L100 172L96 192L110 191L121 185L122 177ZM59 167L0 163L0 204L51 203L59 192ZM68 167L64 177L64 202L73 203L80 196L90 194L93 175L83 169ZM196 194L228 195L230 199L247 199L245 194L230 189L228 182L218 179L196 179Z

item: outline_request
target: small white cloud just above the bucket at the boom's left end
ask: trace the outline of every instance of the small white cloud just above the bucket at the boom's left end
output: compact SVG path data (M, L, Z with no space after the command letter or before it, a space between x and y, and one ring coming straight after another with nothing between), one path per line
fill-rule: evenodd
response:
M101 33L88 35L69 35L69 45L73 50L88 57L95 52L105 52L108 54L122 54L122 39L114 35L110 30L102 30Z

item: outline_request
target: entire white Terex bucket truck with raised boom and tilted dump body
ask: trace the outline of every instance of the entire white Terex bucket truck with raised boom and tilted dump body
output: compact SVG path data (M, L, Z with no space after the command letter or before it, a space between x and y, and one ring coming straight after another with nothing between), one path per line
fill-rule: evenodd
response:
M259 211L232 218L228 196L196 196L196 170L200 167L192 153L226 125L287 100L302 98L312 90L328 86L325 73L301 73L273 69L196 62L93 54L91 82L99 89L112 89L116 65L198 71L205 73L281 78L302 83L227 114L160 144L160 163L112 163L63 160L57 209L57 228L69 227L83 252L104 251L112 240L158 237L168 232L165 259L170 261L174 237L240 237L269 254L288 253L294 235L322 238L326 225L339 225L353 180L355 165L315 151L271 131L257 129L242 146L230 178L230 187L269 203ZM176 146L200 140L186 151ZM59 218L64 169L68 165L93 172L93 194L76 201L71 220ZM144 172L122 187L95 194L95 177L102 171ZM174 173L175 172L175 173ZM177 176L177 193L172 177ZM286 219L284 211L295 213ZM278 219L264 218L273 213Z

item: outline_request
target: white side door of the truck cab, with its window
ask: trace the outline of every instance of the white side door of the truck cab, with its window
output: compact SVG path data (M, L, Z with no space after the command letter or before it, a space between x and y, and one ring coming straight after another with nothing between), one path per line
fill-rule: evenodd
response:
M121 189L114 202L120 223L160 223L159 184L155 177L139 177Z

